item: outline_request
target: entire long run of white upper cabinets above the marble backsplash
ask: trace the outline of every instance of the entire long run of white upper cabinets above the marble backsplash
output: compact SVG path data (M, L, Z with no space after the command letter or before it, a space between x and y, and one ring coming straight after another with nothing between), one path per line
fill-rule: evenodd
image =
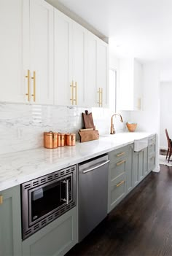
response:
M0 19L0 101L108 106L108 44L44 0L1 0Z

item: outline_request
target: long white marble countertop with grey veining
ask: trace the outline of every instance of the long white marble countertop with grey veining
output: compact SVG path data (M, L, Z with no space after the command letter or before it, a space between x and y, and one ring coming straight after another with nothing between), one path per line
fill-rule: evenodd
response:
M105 134L95 141L54 150L39 148L0 155L0 191L116 150L154 133Z

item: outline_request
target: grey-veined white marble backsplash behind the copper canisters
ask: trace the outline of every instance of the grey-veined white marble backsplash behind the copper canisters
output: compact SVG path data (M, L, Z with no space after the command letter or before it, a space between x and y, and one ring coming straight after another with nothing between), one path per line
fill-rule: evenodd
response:
M87 109L100 134L109 133L112 112L109 109ZM0 154L30 150L43 146L44 131L76 133L83 128L82 112L74 106L45 106L33 104L0 104ZM114 118L117 131L125 130L128 114L123 112L124 123ZM119 118L119 117L117 117ZM115 120L116 119L116 120Z

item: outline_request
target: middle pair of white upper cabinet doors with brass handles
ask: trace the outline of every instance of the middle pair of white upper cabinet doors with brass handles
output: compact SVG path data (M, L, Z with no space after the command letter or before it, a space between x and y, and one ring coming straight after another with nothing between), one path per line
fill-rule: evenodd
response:
M85 106L87 30L55 9L55 104Z

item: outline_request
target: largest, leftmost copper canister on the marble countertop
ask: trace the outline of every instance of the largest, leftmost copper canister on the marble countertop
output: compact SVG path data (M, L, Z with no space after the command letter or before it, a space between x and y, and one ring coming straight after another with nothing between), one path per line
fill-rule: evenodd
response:
M53 133L52 131L44 132L44 147L47 149L58 147L58 133Z

